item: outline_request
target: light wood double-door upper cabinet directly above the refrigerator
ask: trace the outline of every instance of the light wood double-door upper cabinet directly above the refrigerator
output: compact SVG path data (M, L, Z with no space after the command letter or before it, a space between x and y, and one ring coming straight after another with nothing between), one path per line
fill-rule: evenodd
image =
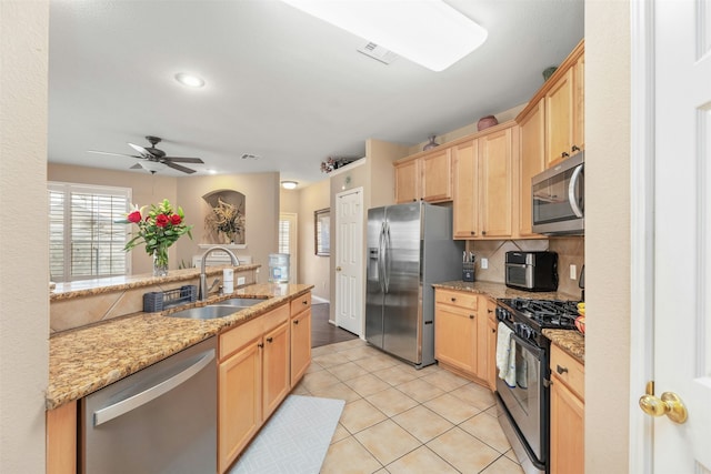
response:
M452 200L451 150L445 147L395 162L395 202Z

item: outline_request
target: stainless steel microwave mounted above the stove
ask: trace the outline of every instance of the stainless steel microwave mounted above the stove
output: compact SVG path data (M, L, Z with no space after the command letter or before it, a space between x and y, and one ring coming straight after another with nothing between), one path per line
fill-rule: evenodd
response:
M545 235L584 233L583 167L581 151L531 179L533 232Z

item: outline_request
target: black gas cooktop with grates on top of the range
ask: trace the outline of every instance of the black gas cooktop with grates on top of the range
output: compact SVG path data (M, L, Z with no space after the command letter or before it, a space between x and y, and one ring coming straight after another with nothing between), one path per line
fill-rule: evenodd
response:
M508 323L519 337L531 342L539 342L544 329L575 329L578 301L513 297L500 299L498 303L499 321Z

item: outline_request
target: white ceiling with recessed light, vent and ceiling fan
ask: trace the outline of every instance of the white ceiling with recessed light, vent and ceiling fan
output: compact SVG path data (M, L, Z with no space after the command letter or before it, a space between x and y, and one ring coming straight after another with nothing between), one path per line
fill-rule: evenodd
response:
M157 135L169 155L206 162L187 164L193 175L307 184L329 157L364 155L369 138L412 145L524 103L583 37L583 0L447 3L489 38L432 72L374 61L356 51L365 40L278 0L51 0L49 161L128 171L138 160L87 150L134 154L128 142ZM178 72L207 84L190 90Z

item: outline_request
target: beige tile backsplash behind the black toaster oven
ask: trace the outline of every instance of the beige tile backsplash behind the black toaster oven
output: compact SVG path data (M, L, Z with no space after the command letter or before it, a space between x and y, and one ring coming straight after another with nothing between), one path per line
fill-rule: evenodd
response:
M550 250L558 253L558 291L580 297L578 288L580 271L585 263L583 236L550 238L541 240L467 241L467 250L474 252L474 279L482 282L504 283L504 261L509 251ZM481 259L488 259L489 268L481 268ZM570 265L575 265L575 279L570 278Z

